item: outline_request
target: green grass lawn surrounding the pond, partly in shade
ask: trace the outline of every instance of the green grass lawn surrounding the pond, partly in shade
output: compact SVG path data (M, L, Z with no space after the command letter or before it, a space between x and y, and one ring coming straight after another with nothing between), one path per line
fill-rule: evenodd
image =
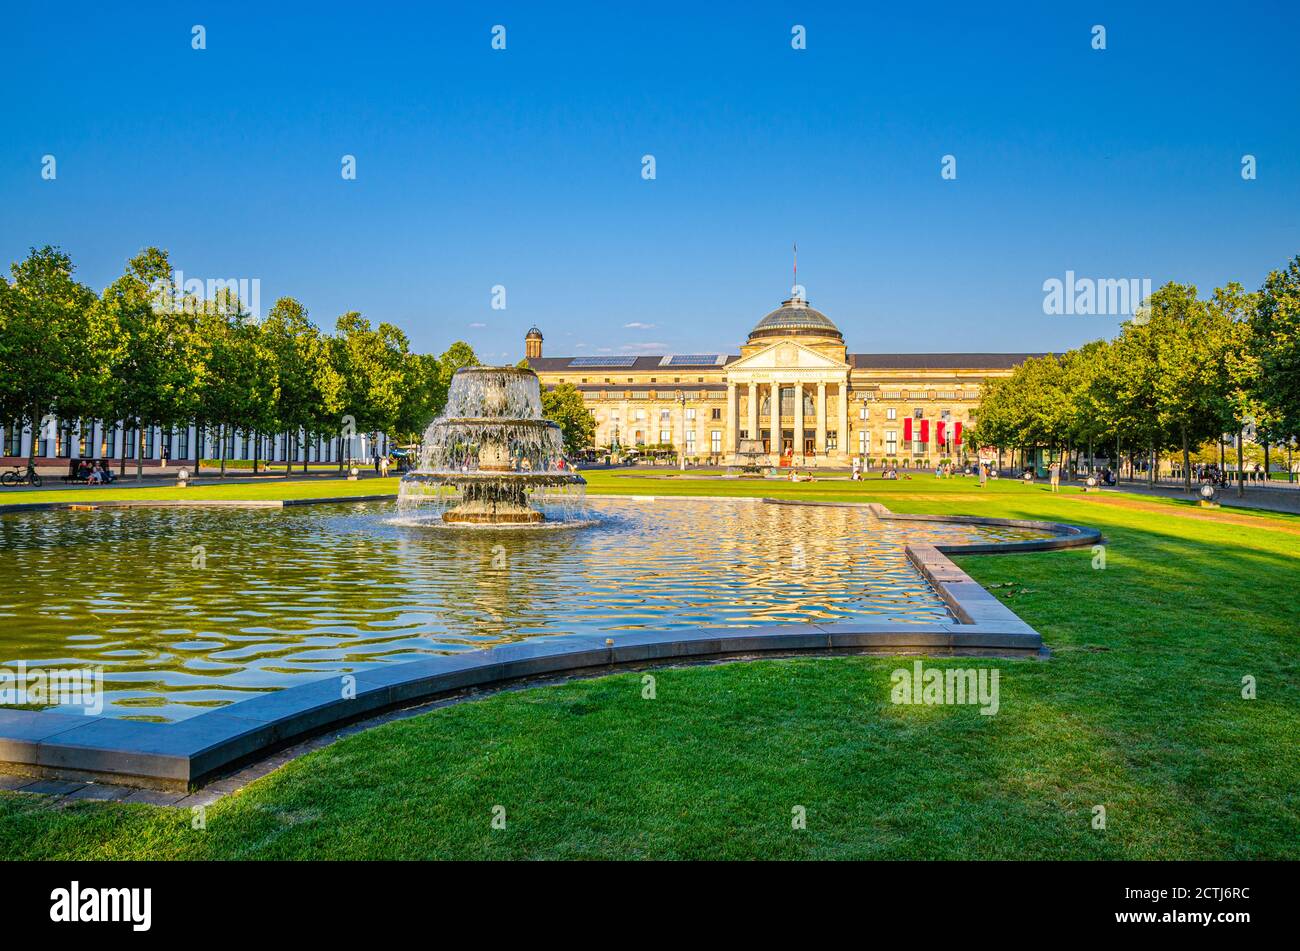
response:
M0 794L0 855L1300 857L1300 609L1291 600L1300 518L926 476L802 485L588 477L593 492L1053 518L1098 527L1110 544L1104 569L1087 548L959 559L1053 650L1048 661L926 661L996 666L996 716L892 704L889 673L911 657L663 669L654 700L641 698L640 673L621 673L358 734L209 807L202 831L188 812ZM1242 698L1247 676L1258 699ZM504 808L502 830L490 825L494 805ZM790 828L797 805L805 830ZM1104 830L1092 828L1095 805L1106 809Z

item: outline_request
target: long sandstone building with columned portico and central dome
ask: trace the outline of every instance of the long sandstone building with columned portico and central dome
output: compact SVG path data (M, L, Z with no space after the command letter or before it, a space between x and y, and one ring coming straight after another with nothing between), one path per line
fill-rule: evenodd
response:
M738 440L760 439L772 465L794 466L974 457L963 437L980 387L1034 356L849 353L835 323L797 296L763 317L738 355L546 357L541 343L532 329L529 365L542 386L582 392L598 448L671 444L731 464Z

